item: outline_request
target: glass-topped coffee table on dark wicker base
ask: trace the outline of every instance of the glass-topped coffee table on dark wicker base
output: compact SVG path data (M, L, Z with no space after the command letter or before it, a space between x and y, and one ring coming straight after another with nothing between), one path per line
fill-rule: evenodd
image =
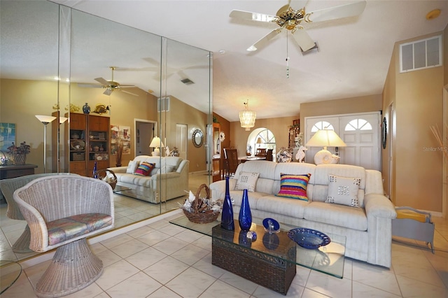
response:
M255 241L241 232L238 220L234 231L222 229L219 220L195 224L185 215L169 222L211 236L212 264L283 295L293 281L296 264L337 278L344 274L345 236L322 231L330 237L330 243L310 250L289 239L288 230L295 227L280 224L278 233L269 234L259 218L253 218L251 227L257 234Z

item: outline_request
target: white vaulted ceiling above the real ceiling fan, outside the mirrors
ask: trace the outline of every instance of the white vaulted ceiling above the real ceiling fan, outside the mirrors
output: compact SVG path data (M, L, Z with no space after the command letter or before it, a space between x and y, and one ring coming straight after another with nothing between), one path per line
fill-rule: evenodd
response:
M302 56L286 30L265 48L247 52L276 24L229 17L233 9L275 15L286 0L53 2L214 52L213 110L230 121L238 120L246 99L258 118L273 118L298 115L304 102L381 94L394 43L448 24L448 1L367 0L357 17L307 26L320 50ZM353 2L292 1L291 6L312 11ZM435 8L440 16L426 20Z

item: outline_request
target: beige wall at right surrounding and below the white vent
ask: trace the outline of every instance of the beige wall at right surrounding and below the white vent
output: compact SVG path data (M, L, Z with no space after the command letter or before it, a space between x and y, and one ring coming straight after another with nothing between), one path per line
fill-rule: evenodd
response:
M437 34L440 32L400 43ZM396 206L441 213L442 152L433 151L437 150L437 142L429 127L442 127L444 67L400 73L400 43L395 44L383 94L383 108L386 110L393 103L396 115L391 199ZM383 152L386 162L387 152Z

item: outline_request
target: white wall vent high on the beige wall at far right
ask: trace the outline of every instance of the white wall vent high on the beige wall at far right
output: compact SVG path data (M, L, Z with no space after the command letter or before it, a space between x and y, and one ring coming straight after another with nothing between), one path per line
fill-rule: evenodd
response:
M400 45L400 73L442 66L442 36Z

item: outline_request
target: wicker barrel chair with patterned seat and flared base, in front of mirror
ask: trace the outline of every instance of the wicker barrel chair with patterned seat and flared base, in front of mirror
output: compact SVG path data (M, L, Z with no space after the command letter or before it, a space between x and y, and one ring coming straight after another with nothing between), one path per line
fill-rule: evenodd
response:
M108 183L82 176L48 176L14 192L31 231L29 248L57 248L36 284L38 297L61 297L81 290L101 276L102 260L86 238L113 227L113 192Z

